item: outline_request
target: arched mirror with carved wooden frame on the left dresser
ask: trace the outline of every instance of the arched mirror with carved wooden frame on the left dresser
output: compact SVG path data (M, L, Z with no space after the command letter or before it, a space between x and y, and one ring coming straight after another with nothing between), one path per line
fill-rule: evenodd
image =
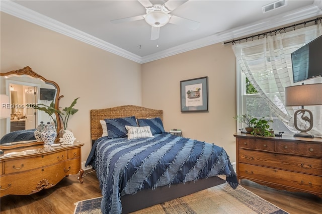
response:
M51 117L43 111L34 107L39 104L50 105L54 102L55 109L59 108L59 86L56 82L48 80L34 72L29 66L0 73L1 115L0 115L0 146L19 145L21 142L28 145L30 140L23 136L12 137L15 131L29 131L30 135L40 122L50 122L60 130L60 119L58 115ZM28 135L28 134L26 134ZM6 139L4 138L6 137ZM12 139L12 140L11 140ZM9 141L9 142L8 142ZM12 142L11 142L12 141Z

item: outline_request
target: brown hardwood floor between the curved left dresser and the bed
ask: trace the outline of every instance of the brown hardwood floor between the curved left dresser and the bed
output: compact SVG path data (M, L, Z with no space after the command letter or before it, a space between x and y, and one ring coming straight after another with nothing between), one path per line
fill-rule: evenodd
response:
M90 171L85 171L84 175ZM102 196L95 172L87 174L83 184L77 177L78 175L69 175L54 187L35 194L4 196L0 199L0 212L1 214L72 214L75 202Z

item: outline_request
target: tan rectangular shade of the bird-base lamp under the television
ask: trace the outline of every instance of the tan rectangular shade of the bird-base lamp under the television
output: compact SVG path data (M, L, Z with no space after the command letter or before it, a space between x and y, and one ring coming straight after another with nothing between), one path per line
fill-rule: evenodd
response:
M285 88L285 106L322 105L322 83Z

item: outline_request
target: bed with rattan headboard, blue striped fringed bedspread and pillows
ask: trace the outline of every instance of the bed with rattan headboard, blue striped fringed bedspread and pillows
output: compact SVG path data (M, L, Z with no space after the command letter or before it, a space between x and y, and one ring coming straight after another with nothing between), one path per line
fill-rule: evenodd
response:
M123 105L91 110L90 116L93 146L86 166L96 169L104 214L132 212L225 182L238 185L223 148L165 132L162 110Z

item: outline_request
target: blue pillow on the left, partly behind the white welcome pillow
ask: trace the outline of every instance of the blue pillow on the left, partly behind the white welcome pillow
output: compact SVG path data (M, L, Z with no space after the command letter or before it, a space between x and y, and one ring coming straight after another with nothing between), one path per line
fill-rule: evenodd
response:
M126 118L104 119L109 138L126 138L125 126L137 126L134 116Z

